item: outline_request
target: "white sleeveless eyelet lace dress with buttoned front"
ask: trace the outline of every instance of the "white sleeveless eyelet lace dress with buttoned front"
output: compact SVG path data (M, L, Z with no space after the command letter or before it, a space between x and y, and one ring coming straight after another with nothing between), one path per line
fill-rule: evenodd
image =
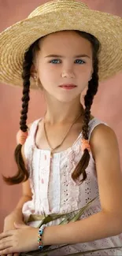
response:
M98 181L95 163L91 153L90 162L86 169L87 180L79 185L76 184L71 177L73 170L82 156L82 132L79 134L72 147L55 153L54 158L50 161L50 150L40 150L35 146L35 132L39 121L40 119L31 124L28 139L24 144L24 154L28 162L29 180L33 193L32 200L25 202L22 209L25 221L27 221L28 217L33 213L68 213L73 210L78 210L85 206L87 202L91 201L91 199L98 196ZM91 132L98 124L105 123L99 121L96 117L89 122L89 139ZM80 176L80 179L81 178L82 176ZM99 211L101 211L101 205L99 199L97 199L89 206L89 209L85 211L81 218L89 217ZM59 224L60 222L61 219L58 219L50 222L49 225ZM37 227L39 223L40 221L35 221L28 224ZM90 243L70 245L50 253L50 256L60 256L83 252L85 250L120 246L122 246L122 234L106 239L99 239ZM103 250L87 255L122 255L122 249Z

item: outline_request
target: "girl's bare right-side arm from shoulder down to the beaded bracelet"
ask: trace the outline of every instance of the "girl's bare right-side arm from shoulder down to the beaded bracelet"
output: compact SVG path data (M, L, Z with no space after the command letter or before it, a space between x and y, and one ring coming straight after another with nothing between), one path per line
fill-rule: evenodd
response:
M122 233L122 173L116 135L105 124L99 124L90 143L102 211L80 221L45 228L44 245L87 243Z

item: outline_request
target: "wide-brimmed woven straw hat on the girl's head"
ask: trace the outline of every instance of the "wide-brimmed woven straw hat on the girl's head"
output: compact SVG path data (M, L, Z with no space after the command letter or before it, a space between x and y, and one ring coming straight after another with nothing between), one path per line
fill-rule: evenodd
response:
M89 9L83 2L56 0L36 8L0 34L0 81L22 86L24 52L43 35L63 30L90 33L102 43L99 53L99 80L122 70L122 18ZM31 78L31 88L35 82Z

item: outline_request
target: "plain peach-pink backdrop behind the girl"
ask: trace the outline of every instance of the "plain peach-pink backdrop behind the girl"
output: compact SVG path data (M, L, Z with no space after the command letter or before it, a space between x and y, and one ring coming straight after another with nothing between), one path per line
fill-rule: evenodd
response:
M69 0L70 1L70 0ZM0 31L13 23L24 19L33 9L47 1L0 0ZM83 0L91 8L116 14L122 17L121 0ZM122 158L122 73L105 83L100 83L98 95L94 98L92 114L107 122L116 132L119 140L120 159ZM21 89L0 85L0 172L5 176L16 173L13 150L16 147L16 132L19 128ZM45 110L43 96L37 91L31 92L28 122L43 116ZM8 186L0 175L0 232L4 217L16 206L21 195L21 185Z

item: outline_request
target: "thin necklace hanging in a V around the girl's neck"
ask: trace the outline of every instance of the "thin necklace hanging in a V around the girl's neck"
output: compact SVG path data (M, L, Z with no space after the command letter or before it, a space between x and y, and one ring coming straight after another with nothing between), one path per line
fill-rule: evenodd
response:
M79 116L76 117L76 119L73 121L72 125L71 125L70 128L68 129L68 132L70 131L70 129L72 128L73 124L76 123L76 121L78 120L78 118L79 118L81 115L82 115L82 113L80 113ZM66 136L68 135L68 132L66 132L65 137L64 137L64 139L61 141L61 143L60 143L57 147L54 147L54 148L53 148L53 147L51 147L50 142L49 142L49 139L48 139L48 137L47 137L45 124L46 124L46 122L45 122L45 119L44 119L43 128L44 128L44 132L45 132L45 135L46 135L47 143L48 143L48 145L50 146L50 149L51 149L51 150L50 150L50 158L53 158L53 151L54 151L55 149L57 149L58 147L61 146L61 144L64 142Z

